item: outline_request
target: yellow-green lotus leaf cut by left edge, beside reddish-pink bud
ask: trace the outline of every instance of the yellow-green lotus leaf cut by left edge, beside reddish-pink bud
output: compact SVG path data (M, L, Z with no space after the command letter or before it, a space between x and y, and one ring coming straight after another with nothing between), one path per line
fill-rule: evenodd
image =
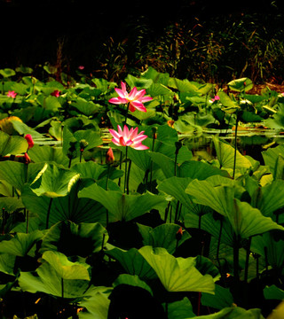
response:
M28 142L22 136L9 136L0 130L0 155L17 155L27 152Z

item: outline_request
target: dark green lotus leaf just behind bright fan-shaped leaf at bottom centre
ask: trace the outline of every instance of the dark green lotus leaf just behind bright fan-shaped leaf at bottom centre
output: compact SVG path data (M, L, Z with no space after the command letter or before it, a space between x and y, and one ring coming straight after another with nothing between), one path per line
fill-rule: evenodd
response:
M175 253L177 247L189 239L191 236L187 231L183 231L180 239L177 239L177 231L180 226L173 223L166 223L155 227L138 224L138 230L143 237L143 245L166 248L169 253Z

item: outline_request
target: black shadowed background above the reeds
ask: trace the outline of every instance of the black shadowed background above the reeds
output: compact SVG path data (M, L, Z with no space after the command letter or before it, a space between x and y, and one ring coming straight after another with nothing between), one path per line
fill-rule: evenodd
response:
M106 39L127 37L143 19L153 35L182 20L206 21L248 12L275 14L283 1L106 1L106 0L0 0L0 68L55 63L59 42L71 67L96 64ZM276 5L273 5L276 4Z

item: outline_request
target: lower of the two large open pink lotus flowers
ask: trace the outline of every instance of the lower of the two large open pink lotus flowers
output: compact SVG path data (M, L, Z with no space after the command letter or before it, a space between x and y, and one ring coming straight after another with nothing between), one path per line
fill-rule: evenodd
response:
M112 139L112 142L117 146L130 146L136 150L147 150L149 147L146 145L141 144L143 140L147 138L146 135L143 135L144 131L141 131L138 134L138 128L128 128L126 125L124 125L124 128L122 128L117 125L116 132L114 129L108 129L109 133L114 136Z

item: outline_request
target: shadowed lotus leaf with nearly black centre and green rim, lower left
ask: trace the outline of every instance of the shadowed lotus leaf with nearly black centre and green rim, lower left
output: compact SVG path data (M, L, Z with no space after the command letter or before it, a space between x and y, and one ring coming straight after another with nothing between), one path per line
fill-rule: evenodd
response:
M101 251L107 239L107 231L99 222L57 222L45 233L40 253L59 251L67 256L87 257Z

